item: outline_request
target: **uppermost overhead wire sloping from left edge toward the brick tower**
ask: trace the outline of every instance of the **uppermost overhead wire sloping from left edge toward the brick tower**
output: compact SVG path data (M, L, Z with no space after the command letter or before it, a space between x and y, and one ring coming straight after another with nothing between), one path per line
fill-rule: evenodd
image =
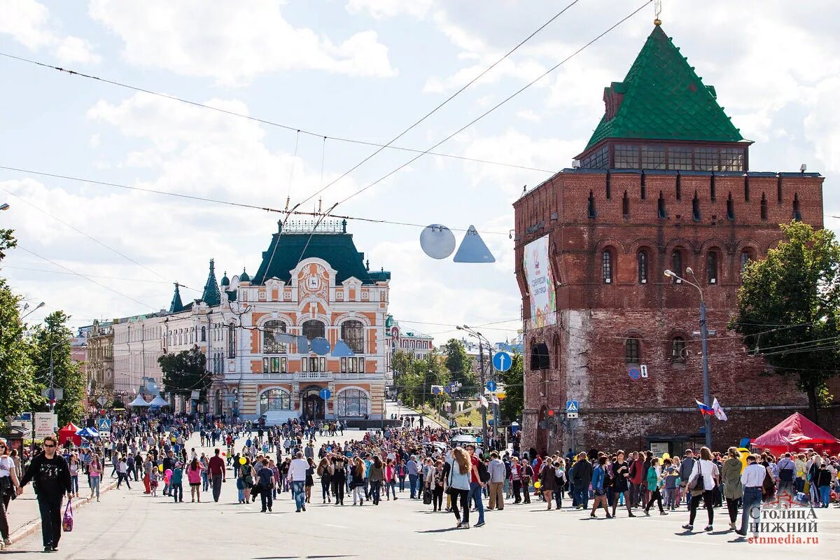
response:
M396 150L403 151L403 152L418 153L418 152L421 151L419 149L407 148L405 146L377 144L375 142L367 142L365 140L349 139L349 138L344 138L344 137L341 137L341 136L330 136L329 134L315 133L315 132L312 132L311 130L307 130L305 128L290 126L290 125L287 125L287 124L275 123L275 122L267 120L265 118L251 117L250 115L246 115L244 113L236 113L235 111L229 111L228 109L223 109L221 107L213 107L212 105L205 105L204 103L190 101L189 99L184 99L183 97L176 97L176 96L168 95L168 94L165 94L165 93L154 92L152 90L144 89L143 87L129 86L128 84L124 84L124 83L119 82L119 81L108 80L107 78L102 78L102 77L99 77L99 76L92 76L90 74L85 74L84 72L69 70L67 68L62 68L61 66L55 66L55 65L47 64L45 62L39 62L38 60L28 59L28 58L25 58L24 56L10 55L10 54L4 53L4 52L0 52L0 56L4 56L4 57L6 57L8 59L12 59L12 60L18 60L20 62L26 62L26 63L32 64L32 65L42 66L44 68L49 68L50 70L65 72L67 74L70 74L71 76L80 76L82 78L89 78L91 80L102 81L103 83L111 84L112 86L124 87L126 89L133 90L134 92L148 93L149 95L153 95L153 96L156 96L156 97L163 97L163 98L169 99L171 101L186 103L187 105L192 105L193 107L202 107L204 109L210 109L211 111L216 111L217 113L224 113L224 114L229 115L231 117L245 118L245 119L248 119L249 121L254 121L255 123L266 124L266 125L269 125L269 126L272 126L272 127L277 127L277 128L285 128L286 130L291 130L293 132L298 132L298 133L302 133L302 134L308 134L310 136L317 136L318 138L327 138L327 139L330 139L330 140L335 140L337 142L344 142L344 143L347 143L347 144L360 144L360 145L364 145L364 146L371 146L371 147L381 148L381 149L385 149L385 148L396 149ZM509 163L504 163L504 162L501 162L501 161L481 160L481 159L478 159L478 158L468 158L464 155L439 154L439 153L431 153L431 152L429 154L437 156L437 157L442 157L442 158L450 158L450 159L454 159L454 160L473 161L475 163L487 164L487 165L501 165L501 166L504 166L504 167L512 167L512 168L527 170L527 171L539 171L541 173L554 173L556 171L556 170L539 169L538 167L530 167L528 165L509 164Z

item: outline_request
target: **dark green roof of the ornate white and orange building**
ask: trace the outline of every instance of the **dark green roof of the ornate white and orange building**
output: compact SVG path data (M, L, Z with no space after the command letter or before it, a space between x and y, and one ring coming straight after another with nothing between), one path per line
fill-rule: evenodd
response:
M270 278L289 282L290 270L301 260L311 258L327 261L337 271L337 284L351 276L361 280L362 284L375 284L391 278L390 272L370 273L365 268L365 256L356 250L350 233L275 233L251 284L263 285Z

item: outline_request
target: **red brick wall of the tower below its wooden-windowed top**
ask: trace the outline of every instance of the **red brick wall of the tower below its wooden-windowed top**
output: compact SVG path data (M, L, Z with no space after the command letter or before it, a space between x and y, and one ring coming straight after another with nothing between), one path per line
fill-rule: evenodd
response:
M537 426L546 407L562 410L567 399L580 400L577 449L642 448L648 437L702 438L694 406L703 395L701 342L694 334L700 330L699 294L664 277L675 249L680 274L686 266L695 271L708 327L716 331L709 340L711 395L730 416L728 422L713 421L716 447L758 436L792 411L805 410L806 398L792 381L763 376L763 360L748 355L727 322L737 311L742 252L764 258L780 240L778 224L790 222L795 210L822 228L822 180L800 173L564 170L517 201L516 272L526 318L522 254L528 242L549 235L560 282L558 324L526 333L526 446L569 447L569 430ZM588 217L590 201L596 217ZM639 250L648 254L644 284ZM602 277L604 251L612 258L609 284ZM710 251L718 259L714 284L707 274ZM647 379L627 374L629 337L640 340ZM672 359L675 337L685 339L683 361ZM538 342L551 353L545 372L528 370L530 348ZM835 423L833 414L827 419Z

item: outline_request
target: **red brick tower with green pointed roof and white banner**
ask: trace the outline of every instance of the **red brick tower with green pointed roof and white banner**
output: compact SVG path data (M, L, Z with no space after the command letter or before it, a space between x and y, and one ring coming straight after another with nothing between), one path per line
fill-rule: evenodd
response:
M823 178L749 171L751 143L659 25L604 102L580 166L514 204L523 447L566 450L572 428L575 450L674 454L703 442L699 294L663 274L686 267L708 307L711 395L729 416L712 421L714 447L758 436L806 399L785 379L759 376L763 360L727 322L743 264L779 241L778 224L822 228ZM643 365L648 376L632 379ZM580 402L580 417L550 421L566 400Z

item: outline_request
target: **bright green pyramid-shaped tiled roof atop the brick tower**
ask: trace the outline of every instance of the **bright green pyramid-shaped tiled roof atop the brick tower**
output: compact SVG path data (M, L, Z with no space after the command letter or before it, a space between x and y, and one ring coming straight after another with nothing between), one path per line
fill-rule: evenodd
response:
M612 118L601 118L586 149L603 139L743 141L717 104L715 88L703 85L659 25L624 81L606 87L604 97L608 107L618 108Z

